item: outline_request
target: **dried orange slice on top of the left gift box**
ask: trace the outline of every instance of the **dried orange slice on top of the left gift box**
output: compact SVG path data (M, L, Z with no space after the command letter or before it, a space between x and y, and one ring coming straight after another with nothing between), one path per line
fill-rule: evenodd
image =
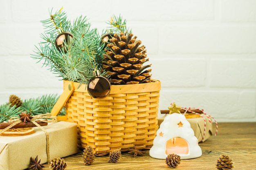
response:
M35 128L12 128L1 134L1 136L25 136L34 133ZM1 130L0 130L1 132Z

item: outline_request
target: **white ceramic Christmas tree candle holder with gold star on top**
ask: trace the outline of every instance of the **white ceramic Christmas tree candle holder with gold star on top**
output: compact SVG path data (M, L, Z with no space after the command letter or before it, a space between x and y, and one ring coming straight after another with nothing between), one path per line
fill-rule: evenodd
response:
M175 103L169 107L170 113L157 130L149 155L157 159L166 159L169 154L180 155L180 159L197 158L202 155L198 139L194 135L189 121L180 113Z

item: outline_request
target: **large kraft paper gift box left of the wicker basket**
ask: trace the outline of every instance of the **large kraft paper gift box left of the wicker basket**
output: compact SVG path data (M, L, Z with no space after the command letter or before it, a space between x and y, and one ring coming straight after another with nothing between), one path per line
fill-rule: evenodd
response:
M49 134L49 160L77 153L77 124L58 121L42 126ZM0 136L0 170L24 170L38 155L47 162L46 135L40 128L26 136Z

